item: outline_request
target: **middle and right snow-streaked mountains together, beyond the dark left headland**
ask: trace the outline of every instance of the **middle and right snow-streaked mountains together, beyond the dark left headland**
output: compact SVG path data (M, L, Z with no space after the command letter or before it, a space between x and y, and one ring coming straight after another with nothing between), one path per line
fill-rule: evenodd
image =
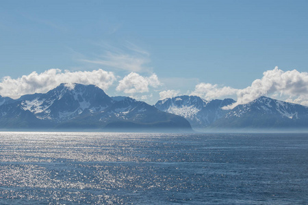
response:
M261 96L231 110L235 101L204 100L198 96L176 96L159 100L155 107L186 118L192 128L308 128L308 107Z

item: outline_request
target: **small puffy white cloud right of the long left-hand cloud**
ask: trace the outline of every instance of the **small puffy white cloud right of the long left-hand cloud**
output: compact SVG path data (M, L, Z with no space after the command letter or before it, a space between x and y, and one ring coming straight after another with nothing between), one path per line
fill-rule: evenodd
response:
M150 86L157 87L161 84L156 74L152 74L151 77L142 77L136 72L131 72L119 81L116 91L126 94L143 93L149 92Z

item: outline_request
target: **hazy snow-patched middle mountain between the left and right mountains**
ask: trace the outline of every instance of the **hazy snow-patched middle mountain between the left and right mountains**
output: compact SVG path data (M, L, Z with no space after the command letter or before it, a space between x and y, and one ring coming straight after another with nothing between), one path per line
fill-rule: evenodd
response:
M207 101L198 96L177 96L159 100L155 107L161 111L180 115L194 128L204 128L222 118L227 111L221 109L235 102L232 99Z

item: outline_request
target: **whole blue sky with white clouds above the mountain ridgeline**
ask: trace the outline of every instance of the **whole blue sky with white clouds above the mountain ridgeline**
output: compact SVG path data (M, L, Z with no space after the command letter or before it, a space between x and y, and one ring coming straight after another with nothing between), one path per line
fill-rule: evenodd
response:
M95 84L308 105L308 1L0 1L0 95ZM233 105L233 107L235 106Z

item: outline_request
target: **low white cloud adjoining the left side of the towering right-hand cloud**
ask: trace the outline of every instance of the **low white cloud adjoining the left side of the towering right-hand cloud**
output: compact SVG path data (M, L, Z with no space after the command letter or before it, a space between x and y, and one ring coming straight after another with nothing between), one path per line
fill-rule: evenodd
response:
M217 84L212 85L211 83L199 83L196 85L194 92L190 95L200 96L205 100L211 100L224 96L232 96L236 94L236 92L238 92L238 90L232 87L220 87Z

